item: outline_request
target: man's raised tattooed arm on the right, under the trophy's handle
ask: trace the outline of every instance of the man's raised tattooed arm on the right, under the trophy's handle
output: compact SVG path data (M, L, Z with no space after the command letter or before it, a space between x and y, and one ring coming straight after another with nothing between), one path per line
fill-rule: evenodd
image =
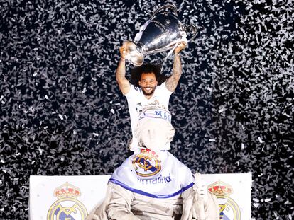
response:
M185 42L180 42L178 47L175 48L175 59L173 61L173 74L171 74L165 81L165 86L169 91L175 91L178 86L180 76L182 75L182 64L180 63L180 51L186 46Z

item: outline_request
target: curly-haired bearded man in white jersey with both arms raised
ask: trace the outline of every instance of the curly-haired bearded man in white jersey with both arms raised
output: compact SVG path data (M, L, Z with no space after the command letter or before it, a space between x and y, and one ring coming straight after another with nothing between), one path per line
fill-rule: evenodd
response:
M134 130L138 122L138 115L140 114L143 106L150 103L158 103L159 105L163 105L165 109L168 110L170 95L173 93L173 91L175 91L182 74L180 51L183 50L185 46L185 42L180 42L178 46L175 47L173 74L171 74L163 83L159 81L159 66L143 64L143 66L135 68L140 71L136 73L138 76L138 82L135 82L139 88L131 85L125 76L126 42L119 48L121 59L119 61L119 66L116 69L116 81L119 84L121 93L123 93L128 100L129 113L131 118L131 132L133 134L133 139L130 144L131 151L134 151L138 145L138 141L134 138ZM158 85L158 83L160 84Z

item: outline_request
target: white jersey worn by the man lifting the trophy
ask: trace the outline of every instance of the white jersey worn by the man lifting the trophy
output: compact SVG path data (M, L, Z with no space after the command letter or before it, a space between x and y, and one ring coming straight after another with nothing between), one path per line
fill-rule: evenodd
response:
M170 95L173 92L169 91L165 86L165 82L160 86L156 86L156 89L150 99L147 99L143 94L141 88L131 85L129 93L126 93L126 100L128 100L130 118L131 118L131 132L133 134L133 139L131 141L130 149L135 151L138 146L138 141L134 137L134 131L138 124L138 116L142 112L146 105L151 103L159 103L163 105L166 110L168 110L168 103L170 100Z

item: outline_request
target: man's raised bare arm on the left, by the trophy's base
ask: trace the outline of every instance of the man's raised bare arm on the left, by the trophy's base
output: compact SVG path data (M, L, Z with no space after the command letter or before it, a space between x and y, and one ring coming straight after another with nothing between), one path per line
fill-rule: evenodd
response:
M129 80L126 79L126 46L122 45L119 48L119 52L121 54L121 60L119 61L119 66L117 66L115 76L121 93L125 95L126 93L129 93L131 88Z

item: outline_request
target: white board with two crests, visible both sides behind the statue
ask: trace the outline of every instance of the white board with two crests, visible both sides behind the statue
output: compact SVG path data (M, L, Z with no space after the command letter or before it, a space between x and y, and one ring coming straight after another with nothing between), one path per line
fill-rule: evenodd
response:
M204 174L220 219L251 219L251 173ZM31 176L31 220L84 220L102 202L110 175Z

